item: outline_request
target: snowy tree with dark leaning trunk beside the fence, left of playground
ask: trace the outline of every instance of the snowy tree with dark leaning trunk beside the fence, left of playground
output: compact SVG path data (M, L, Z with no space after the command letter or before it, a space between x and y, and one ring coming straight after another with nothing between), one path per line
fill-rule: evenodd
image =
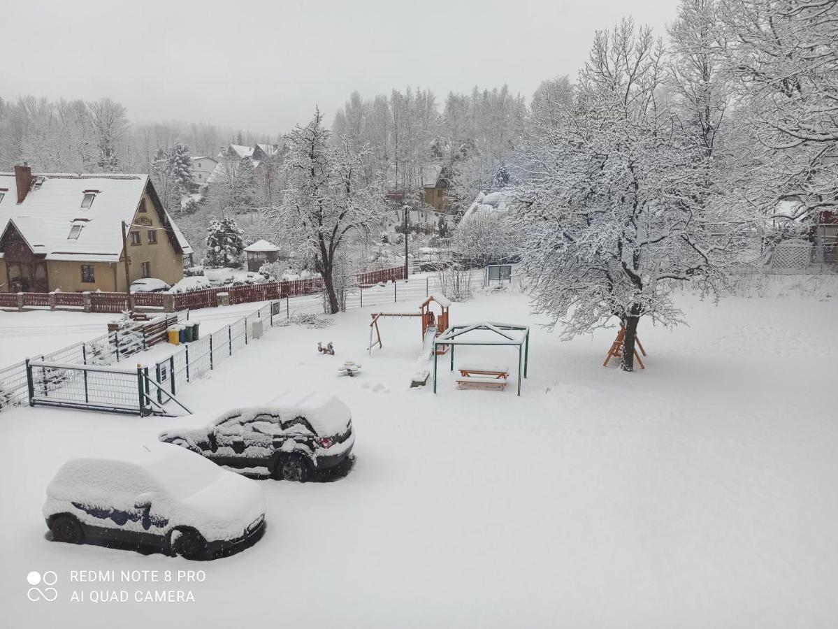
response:
M352 235L369 233L384 219L380 183L365 178L365 146L348 138L334 146L315 110L311 121L287 136L284 171L287 188L277 217L297 242L297 255L313 261L323 276L328 307L339 312L334 272Z

